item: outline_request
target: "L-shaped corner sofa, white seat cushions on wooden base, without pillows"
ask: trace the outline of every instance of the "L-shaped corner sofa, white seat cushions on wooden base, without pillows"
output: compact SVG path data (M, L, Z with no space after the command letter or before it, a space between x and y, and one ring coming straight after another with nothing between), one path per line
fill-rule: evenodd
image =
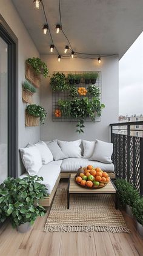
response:
M70 173L76 174L79 167L87 167L87 165L101 167L101 169L106 171L111 178L115 178L114 165L112 162L107 164L83 158L83 156L78 158L68 157L62 160L48 162L48 164L42 165L36 173L36 175L43 177L44 181L41 182L45 184L49 194L48 198L44 198L41 201L42 206L50 206L61 178L68 178ZM26 171L20 178L24 178L27 175L28 173Z

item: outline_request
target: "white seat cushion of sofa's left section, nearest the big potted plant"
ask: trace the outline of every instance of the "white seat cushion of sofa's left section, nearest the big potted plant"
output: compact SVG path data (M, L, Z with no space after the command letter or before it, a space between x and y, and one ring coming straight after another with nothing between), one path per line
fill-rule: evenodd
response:
M42 165L38 173L39 177L42 176L44 181L41 181L48 189L48 194L50 194L55 186L56 180L58 179L59 174L61 173L61 163L62 161L52 161L48 164ZM24 173L19 176L19 178L24 178L28 175L28 173Z

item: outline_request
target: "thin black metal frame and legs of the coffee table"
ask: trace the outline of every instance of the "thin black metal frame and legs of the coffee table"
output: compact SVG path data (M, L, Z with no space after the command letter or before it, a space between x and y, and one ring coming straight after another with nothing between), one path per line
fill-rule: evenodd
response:
M69 176L68 179L68 186L67 186L67 209L70 209L70 195L78 195L80 193L70 193L69 189L70 189L70 179L71 179L71 175ZM110 192L106 192L106 193L88 193L88 192L84 192L81 193L83 195L115 195L115 209L118 210L118 189L116 188L114 182L112 181L112 179L110 179L111 184L113 185L113 187L115 188L115 193L110 193Z

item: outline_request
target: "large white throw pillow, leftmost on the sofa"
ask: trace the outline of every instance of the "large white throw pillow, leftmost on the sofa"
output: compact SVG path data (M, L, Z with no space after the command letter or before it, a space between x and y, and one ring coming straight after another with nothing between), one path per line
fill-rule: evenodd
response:
M29 175L36 175L42 167L41 154L35 145L28 144L26 148L21 148L22 162Z

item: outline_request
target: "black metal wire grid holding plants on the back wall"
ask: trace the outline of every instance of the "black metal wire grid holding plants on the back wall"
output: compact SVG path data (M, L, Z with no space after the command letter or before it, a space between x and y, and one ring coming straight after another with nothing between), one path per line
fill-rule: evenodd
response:
M88 72L72 72L72 71L62 71L62 72L59 72L59 73L63 73L65 75L65 77L67 77L67 74L71 73L71 74L84 74L84 73L91 73L93 71L88 71ZM102 78L101 78L101 71L94 71L94 72L98 72L98 79L96 80L96 83L95 85L100 89L101 91L101 82L102 82ZM53 73L56 73L56 72L53 72ZM76 85L77 86L77 89L79 87L84 87L87 89L87 87L90 85L91 83L89 84L85 84L84 83L84 80L81 79L81 83L79 83L79 85ZM72 85L71 85L72 86ZM102 91L101 91L102 92ZM70 93L68 91L65 91L65 92L52 92L52 120L53 122L77 122L78 119L71 119L71 118L67 118L67 117L55 117L55 110L58 109L58 100L59 99L62 99L62 100L67 100L67 99L71 99L70 98ZM87 95L86 96L80 96L78 95L78 97L81 99L82 97L88 97L88 98L91 98L90 95ZM101 97L100 97L100 101L101 101ZM95 118L95 121L91 120L90 117L87 117L85 119L85 122L100 122L101 121L101 117L97 117Z

